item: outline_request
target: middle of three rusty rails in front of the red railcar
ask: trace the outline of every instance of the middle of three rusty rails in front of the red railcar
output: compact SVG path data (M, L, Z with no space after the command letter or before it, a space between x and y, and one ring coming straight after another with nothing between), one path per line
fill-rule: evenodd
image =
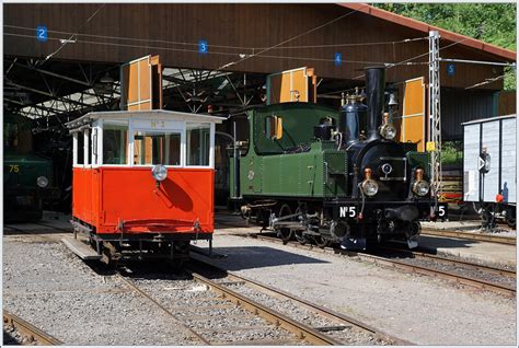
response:
M274 311L254 300L244 297L226 286L219 285L206 277L193 272L193 278L206 286L210 287L212 291L220 293L224 299L230 300L231 302L244 308L245 310L260 315L265 318L267 322L275 324L276 326L282 327L284 329L293 333L299 339L307 340L313 345L318 346L342 346L341 341L337 341L321 332L299 323L285 314L281 314L277 311Z

